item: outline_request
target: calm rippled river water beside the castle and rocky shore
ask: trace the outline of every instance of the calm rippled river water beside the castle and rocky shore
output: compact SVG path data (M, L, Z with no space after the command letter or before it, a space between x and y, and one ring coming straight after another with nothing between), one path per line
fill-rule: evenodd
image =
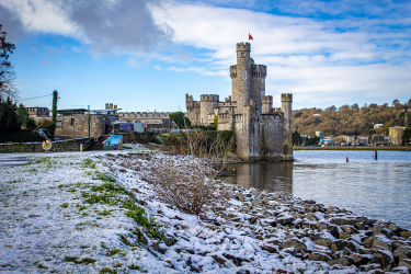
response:
M294 162L237 163L220 179L293 194L411 229L411 151L295 150ZM349 158L349 162L346 162Z

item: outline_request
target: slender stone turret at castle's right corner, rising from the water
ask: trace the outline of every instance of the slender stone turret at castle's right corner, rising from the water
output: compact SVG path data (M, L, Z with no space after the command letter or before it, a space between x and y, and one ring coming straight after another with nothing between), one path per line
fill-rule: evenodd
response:
M282 112L284 113L284 146L283 146L283 160L294 160L293 142L292 142L292 111L293 111L293 94L282 94Z

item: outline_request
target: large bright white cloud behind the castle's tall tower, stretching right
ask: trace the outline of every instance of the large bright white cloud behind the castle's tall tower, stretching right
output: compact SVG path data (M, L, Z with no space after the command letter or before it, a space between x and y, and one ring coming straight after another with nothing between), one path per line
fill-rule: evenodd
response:
M228 78L228 67L236 62L235 45L247 41L250 31L254 38L251 56L267 66L269 94L293 92L297 105L311 106L409 96L411 31L407 20L320 21L202 3L168 4L153 9L156 22L174 30L176 44L212 52L202 68L169 70L204 75L218 69L217 76ZM398 25L401 31L391 28Z

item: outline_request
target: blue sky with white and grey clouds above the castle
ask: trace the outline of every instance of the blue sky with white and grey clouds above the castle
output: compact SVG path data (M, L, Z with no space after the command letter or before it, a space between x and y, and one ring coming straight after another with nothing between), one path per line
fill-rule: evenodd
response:
M411 99L411 1L0 0L25 106L185 111L231 95L236 44L293 109Z

